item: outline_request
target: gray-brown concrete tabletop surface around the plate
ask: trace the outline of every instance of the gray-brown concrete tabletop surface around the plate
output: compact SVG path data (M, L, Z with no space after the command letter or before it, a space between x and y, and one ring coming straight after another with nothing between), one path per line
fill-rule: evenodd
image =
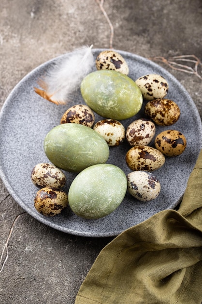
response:
M105 0L104 9L114 27L115 49L146 58L192 54L202 61L201 0ZM110 34L96 0L1 0L0 107L33 68L82 45L109 48ZM202 79L159 64L185 86L202 117ZM13 222L0 272L0 303L73 304L112 238L72 236L43 225L14 202L0 181L0 254Z

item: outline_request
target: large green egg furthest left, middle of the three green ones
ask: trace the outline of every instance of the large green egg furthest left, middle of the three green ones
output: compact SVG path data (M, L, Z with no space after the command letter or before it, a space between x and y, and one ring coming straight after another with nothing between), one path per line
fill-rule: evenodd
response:
M48 132L44 139L44 151L58 168L70 172L105 163L109 146L93 129L77 123L65 123Z

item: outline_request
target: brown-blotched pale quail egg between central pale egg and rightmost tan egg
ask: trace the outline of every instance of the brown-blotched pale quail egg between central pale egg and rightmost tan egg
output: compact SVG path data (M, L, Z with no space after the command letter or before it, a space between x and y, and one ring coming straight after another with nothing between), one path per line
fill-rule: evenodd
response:
M130 146L148 145L156 132L155 124L145 118L134 120L126 129L126 139Z

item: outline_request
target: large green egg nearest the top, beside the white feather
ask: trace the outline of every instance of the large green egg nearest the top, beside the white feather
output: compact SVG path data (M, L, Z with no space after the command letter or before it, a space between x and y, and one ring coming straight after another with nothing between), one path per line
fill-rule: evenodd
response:
M114 70L88 74L81 83L81 94L87 105L105 118L130 118L143 104L143 95L137 84Z

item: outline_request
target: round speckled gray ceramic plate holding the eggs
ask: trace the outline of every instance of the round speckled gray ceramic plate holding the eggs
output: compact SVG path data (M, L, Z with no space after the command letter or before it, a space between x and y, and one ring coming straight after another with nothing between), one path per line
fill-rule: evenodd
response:
M93 50L95 58L100 51L103 49ZM24 77L14 87L0 113L0 176L5 186L14 200L32 217L69 234L91 237L116 236L161 210L174 208L182 199L189 174L201 149L201 118L184 87L157 64L129 52L118 52L127 61L130 67L129 76L133 80L148 73L164 76L169 82L169 93L166 98L175 101L181 110L181 116L173 126L157 127L157 134L167 129L181 131L187 138L187 148L180 156L167 157L165 165L153 172L161 184L159 197L154 201L141 203L127 194L113 213L99 220L81 219L72 213L69 206L54 218L37 213L33 199L38 189L32 184L30 173L36 164L48 162L43 151L44 137L60 123L60 118L67 108L73 104L84 103L79 90L75 92L72 103L68 106L57 106L34 92L33 87L37 85L37 79L58 58L35 68ZM63 56L68 54L59 58ZM138 115L121 122L127 127L131 121L141 117L144 117L144 105ZM96 115L96 121L100 119L101 117ZM108 163L119 166L128 174L130 169L125 163L125 154L129 149L127 143L110 148ZM68 182L64 190L68 191L75 174L65 174Z

